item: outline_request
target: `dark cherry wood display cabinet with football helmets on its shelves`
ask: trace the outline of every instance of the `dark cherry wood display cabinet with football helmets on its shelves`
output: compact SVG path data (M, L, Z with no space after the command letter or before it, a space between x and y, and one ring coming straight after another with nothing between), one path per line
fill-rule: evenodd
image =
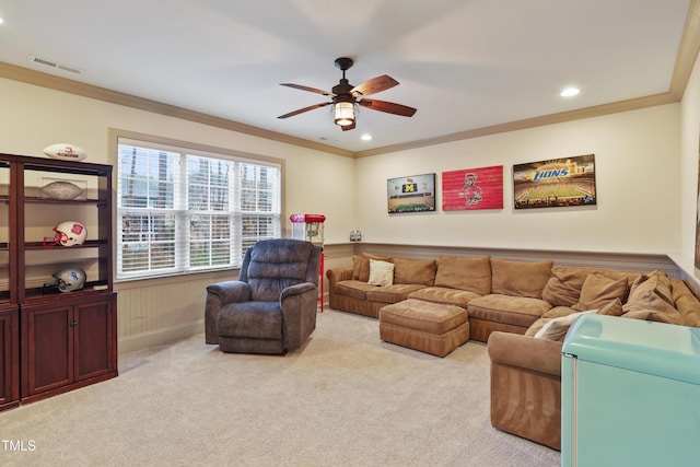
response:
M80 192L47 192L52 182ZM0 409L7 395L28 402L117 375L112 195L110 165L0 154ZM65 221L83 224L86 241L52 242ZM59 291L62 268L84 270L85 285Z

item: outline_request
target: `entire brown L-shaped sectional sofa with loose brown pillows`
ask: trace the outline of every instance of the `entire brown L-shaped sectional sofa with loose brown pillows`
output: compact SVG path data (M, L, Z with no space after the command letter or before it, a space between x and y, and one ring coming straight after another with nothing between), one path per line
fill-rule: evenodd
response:
M394 265L390 284L370 283L372 261ZM681 280L660 271L365 253L327 277L329 305L336 310L378 317L383 306L407 299L464 307L470 338L488 342L492 425L556 450L561 445L561 348L578 313L700 327L700 301Z

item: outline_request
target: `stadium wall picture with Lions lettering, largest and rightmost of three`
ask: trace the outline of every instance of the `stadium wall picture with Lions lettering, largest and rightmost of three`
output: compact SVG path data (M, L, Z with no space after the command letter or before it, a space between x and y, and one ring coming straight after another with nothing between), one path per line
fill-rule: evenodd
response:
M515 209L596 205L595 155L513 165Z

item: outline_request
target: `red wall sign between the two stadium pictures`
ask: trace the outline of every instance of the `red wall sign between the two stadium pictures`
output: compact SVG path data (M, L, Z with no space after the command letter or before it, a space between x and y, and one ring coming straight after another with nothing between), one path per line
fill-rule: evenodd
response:
M442 210L503 208L503 166L442 173Z

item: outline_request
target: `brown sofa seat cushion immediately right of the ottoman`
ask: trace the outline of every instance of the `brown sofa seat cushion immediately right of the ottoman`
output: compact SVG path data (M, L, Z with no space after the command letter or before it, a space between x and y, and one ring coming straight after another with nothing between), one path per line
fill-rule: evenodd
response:
M488 322L528 328L551 305L540 299L488 294L467 304L467 315Z

